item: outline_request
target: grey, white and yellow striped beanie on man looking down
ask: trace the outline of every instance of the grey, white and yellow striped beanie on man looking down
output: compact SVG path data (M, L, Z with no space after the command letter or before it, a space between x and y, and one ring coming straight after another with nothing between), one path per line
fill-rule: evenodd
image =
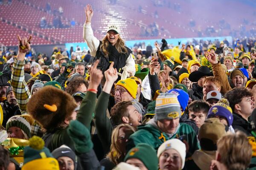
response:
M177 119L181 116L177 94L162 93L156 99L155 119Z

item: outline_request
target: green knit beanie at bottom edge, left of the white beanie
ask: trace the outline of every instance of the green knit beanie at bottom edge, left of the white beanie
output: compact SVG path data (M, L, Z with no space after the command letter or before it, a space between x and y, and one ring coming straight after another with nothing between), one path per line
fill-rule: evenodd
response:
M140 143L136 147L133 147L126 154L124 161L128 159L136 158L143 162L148 170L158 170L157 153L153 147L148 144Z

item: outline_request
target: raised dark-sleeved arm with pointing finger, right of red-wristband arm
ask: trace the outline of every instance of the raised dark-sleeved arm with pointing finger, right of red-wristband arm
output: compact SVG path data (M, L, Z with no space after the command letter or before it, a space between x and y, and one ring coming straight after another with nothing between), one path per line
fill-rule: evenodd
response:
M97 133L105 151L109 150L111 144L111 134L113 130L111 122L106 115L106 109L108 108L111 88L113 83L118 78L116 68L113 68L113 65L114 62L111 63L109 69L104 73L106 82L102 89L102 93L99 95L99 99L95 108L96 129L98 130Z

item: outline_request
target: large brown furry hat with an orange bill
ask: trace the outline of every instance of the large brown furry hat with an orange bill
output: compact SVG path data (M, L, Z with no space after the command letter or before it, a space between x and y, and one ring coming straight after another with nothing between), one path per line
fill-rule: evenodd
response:
M27 104L27 111L47 132L52 132L61 127L76 107L76 101L70 94L46 86L32 95Z

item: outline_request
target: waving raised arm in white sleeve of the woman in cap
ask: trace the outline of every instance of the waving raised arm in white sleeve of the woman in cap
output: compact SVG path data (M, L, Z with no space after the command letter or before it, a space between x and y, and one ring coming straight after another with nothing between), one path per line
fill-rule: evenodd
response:
M87 43L88 47L90 48L90 54L95 57L96 51L99 47L99 40L94 37L93 29L91 27L91 20L93 17L92 6L87 4L87 6L84 8L84 12L86 14L86 21L84 23L83 38L84 41Z

